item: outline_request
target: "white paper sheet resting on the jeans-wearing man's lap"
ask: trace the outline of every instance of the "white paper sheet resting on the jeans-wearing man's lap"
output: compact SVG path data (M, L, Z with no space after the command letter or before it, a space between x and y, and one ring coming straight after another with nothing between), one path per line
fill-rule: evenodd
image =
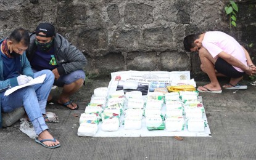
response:
M34 84L39 84L39 83L43 83L44 79L46 78L46 74L43 74L42 76L39 76L35 79L32 79L30 82L20 85L20 86L15 86L12 87L11 89L6 90L6 92L4 93L4 95L10 95L12 94L12 92L14 92L15 90L21 89L23 87L27 87L27 86L33 86Z

